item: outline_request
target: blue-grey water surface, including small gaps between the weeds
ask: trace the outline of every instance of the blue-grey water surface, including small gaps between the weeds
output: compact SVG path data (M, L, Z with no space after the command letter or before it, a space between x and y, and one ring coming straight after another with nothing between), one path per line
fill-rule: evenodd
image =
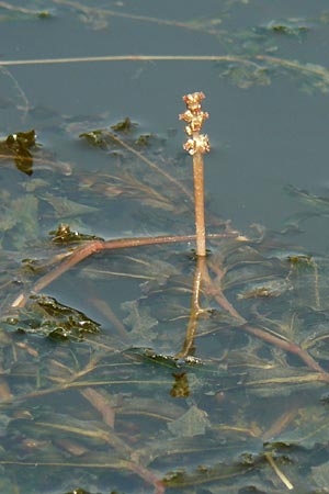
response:
M326 0L49 0L31 1L27 5L23 3L26 2L11 1L3 5L0 2L0 64L1 60L102 55L237 55L247 58L259 53L285 60L298 60L302 65L326 67L328 60L329 22L325 15L328 10ZM79 4L93 9L110 9L124 15L84 15ZM9 9L9 5L12 9ZM43 19L33 12L22 12L20 7L36 12L48 11L50 15ZM161 23L162 20L170 22ZM190 30L180 24L189 20L216 22L209 22L206 27L200 30ZM288 25L291 31L275 32L269 27L271 21ZM300 25L306 25L307 30L298 31ZM207 32L214 29L218 31L217 35ZM268 85L258 85L251 79L248 88L241 88L241 85L225 77L225 67L222 63L197 60L8 66L4 68L10 72L0 72L0 133L4 139L9 134L35 128L37 141L45 149L55 153L58 160L69 162L72 173L65 176L60 170L57 173L50 169L39 170L35 166L33 180L54 177L49 179L46 192L57 194L63 188L65 192L61 195L83 203L86 195L82 189L77 188L75 178L84 172L97 177L98 173L106 171L107 158L95 155L94 149L81 145L79 134L104 128L129 116L138 122L139 133L155 133L163 138L170 134L166 154L170 159L182 161L182 166L189 166L188 160L182 158L184 134L178 114L184 111L182 96L201 90L206 94L204 109L209 112L209 120L205 124L205 132L212 144L212 151L205 160L208 211L224 220L231 220L232 226L242 233L254 223L266 231L282 231L287 225L287 218L302 211L309 211L310 207L309 204L305 207L296 198L290 197L285 190L287 184L329 198L329 94L325 92L329 91L329 76L328 81L320 79L321 83L317 86L317 79L305 78L303 70L283 71L279 64L266 66L270 77ZM29 178L13 165L5 164L0 169L0 188L2 191L9 191L12 201L20 197L22 187L24 189L27 181ZM71 226L82 228L84 234L115 238L175 234L177 228L179 233L184 233L175 214L166 217L159 215L158 221L152 216L152 222L149 222L143 207L138 210L138 203L136 205L128 201L125 206L123 201L105 201L97 194L93 199L94 202L91 202L88 198L88 205L99 207L100 214L86 215L83 220L73 217L70 222ZM4 195L1 201L4 204ZM178 203L179 201L180 198ZM328 254L329 229L326 212L329 207L328 211L326 207L325 204L324 210L318 209L316 216L305 221L298 233L292 234L292 245L299 245L307 252L321 257ZM43 258L38 238L46 237L49 229L55 229L63 218L58 215L57 220L56 223L54 215L49 214L48 205L41 203L38 232L34 243L24 246L26 251L24 248L20 250L15 237L7 237L7 234L2 233L3 250L8 250L18 262L24 257ZM193 229L193 215L185 221L185 226L188 233ZM212 227L213 225L209 229ZM39 250L33 256L34 246ZM148 252L151 256L152 250ZM182 252L183 259L178 261L177 269L184 276L190 261L186 260L185 248L182 248ZM120 265L120 255L114 257L122 268L125 263L122 261ZM88 305L91 297L110 293L112 304L118 306L123 301L134 300L139 293L139 282L132 279L100 280L94 282L92 288L89 281L83 280L83 274L66 274L64 279L64 282L57 280L47 288L46 293L103 324L104 315L101 315L94 305ZM184 296L185 305L189 306L189 296ZM161 302L157 303L156 308L161 306ZM276 311L280 314L280 307ZM238 347L242 344L243 340L239 341ZM212 339L201 343L198 351L209 357L213 345L217 352L218 341L214 343ZM168 350L164 337L158 347ZM47 344L44 351L48 351ZM146 375L148 372L146 371ZM209 395L215 392L217 390L208 390ZM245 396L232 396L237 406L241 406L239 400L242 401ZM280 409L281 404L277 402L275 406ZM41 401L38 404L48 406L47 401ZM262 401L257 402L257 405L258 412L251 408L253 412L250 413L261 415L259 411L262 409ZM52 406L50 398L49 408ZM73 408L72 403L69 403L68 409L70 407ZM272 412L264 413L271 416ZM145 430L147 434L147 426ZM326 448L327 445L324 446L324 449ZM324 461L326 458L325 454ZM320 463L319 460L318 464ZM189 465L189 461L186 464ZM190 465L193 465L193 461ZM126 494L152 492L144 484L140 486L138 482L135 485L134 481L122 481L116 473L113 478L109 474L109 478L102 476L100 482L95 473L94 483L90 476L86 474L84 479L83 475L84 473L81 473L79 478L79 472L75 472L75 479L81 479L80 484L77 482L75 485L84 486L90 492L99 492L102 487L104 492L111 492L112 486L118 486L120 492L125 490ZM58 486L58 479L54 481L55 486L52 490L52 482L46 481L44 484L36 482L34 487L32 476L29 478L29 494L65 492L64 487ZM13 479L14 475L10 473L9 478ZM20 474L18 478L20 479ZM296 476L294 479L298 484ZM317 485L322 487L324 482ZM69 485L69 482L65 485ZM258 484L252 485L254 487ZM280 486L282 487L280 482L274 482L273 491L269 492L281 492ZM8 492L23 493L23 490L20 490L21 481L15 484L12 480L10 489ZM70 489L73 489L73 485L70 485ZM216 485L209 487L209 491L206 486L193 485L182 489L184 490L180 491L179 487L172 492L223 492L222 487ZM230 485L229 489L227 492L243 492L239 491L243 485ZM300 479L297 489L299 491L295 492L315 492L303 491Z

